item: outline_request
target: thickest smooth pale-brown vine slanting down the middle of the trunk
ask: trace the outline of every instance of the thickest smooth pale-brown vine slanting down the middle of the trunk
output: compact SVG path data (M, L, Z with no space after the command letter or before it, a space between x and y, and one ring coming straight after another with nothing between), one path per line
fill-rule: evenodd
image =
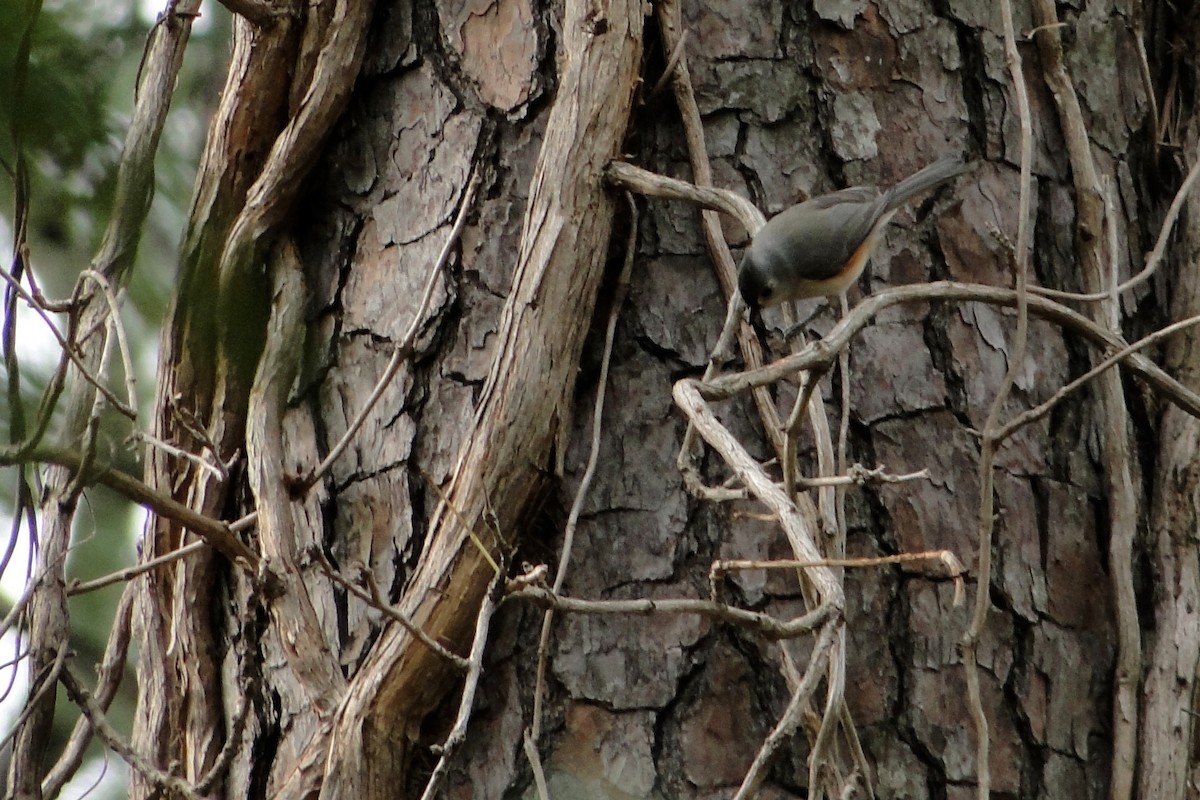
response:
M563 423L602 276L613 215L602 172L625 134L643 23L637 0L599 13L583 0L564 10L562 83L530 185L497 357L446 489L454 511L443 504L433 516L418 572L397 603L460 649L492 572L468 534L496 552L498 539L516 536ZM338 711L320 796L395 796L448 678L434 654L398 625L389 627ZM289 787L295 792L283 796L305 788Z

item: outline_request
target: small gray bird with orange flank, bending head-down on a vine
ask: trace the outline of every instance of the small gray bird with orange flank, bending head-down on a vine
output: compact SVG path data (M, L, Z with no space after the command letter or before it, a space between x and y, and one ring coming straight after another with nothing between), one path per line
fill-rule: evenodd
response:
M853 186L775 215L742 257L742 299L756 313L785 300L841 294L862 275L901 205L967 169L958 156L947 156L886 192Z

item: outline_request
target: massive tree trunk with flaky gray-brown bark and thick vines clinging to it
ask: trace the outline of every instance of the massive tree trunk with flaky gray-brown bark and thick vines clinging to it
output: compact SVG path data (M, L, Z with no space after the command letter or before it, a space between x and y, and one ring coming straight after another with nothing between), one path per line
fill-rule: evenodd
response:
M193 212L193 224L204 224L190 233L164 338L160 435L200 450L168 408L186 401L220 457L244 453L246 467L235 462L218 486L156 463L149 480L214 517L257 511L246 541L283 576L263 589L209 553L152 573L136 606L133 744L190 781L226 758L212 790L227 796L420 796L438 760L431 747L455 718L462 673L319 563L364 587L373 582L466 657L491 561L514 575L522 563L558 563L599 391L607 399L599 462L564 594L706 599L715 559L791 558L762 505L697 499L676 468L686 420L672 385L703 372L727 303L697 207L637 199L635 269L608 383L598 381L631 224L605 167L619 158L692 176L670 89L649 96L670 59L654 8L636 0L380 0L365 42L344 46L358 48L361 65L347 55L340 67L344 91L332 92L330 108L344 110L330 112L314 134L322 144L300 162L311 168L304 188L289 176L277 212L239 222L259 207L251 201L265 180L257 170L286 146L284 124L305 136L296 121L317 102L305 76L317 85L324 74L324 62L306 53L334 47L311 42L354 5L338 5L334 22L322 23L328 30L310 22L251 36L244 25L234 56L241 77L230 86L244 92L240 103L259 98L259 116L247 125L228 98L218 112ZM1106 284L1085 273L1082 249L1103 242L1102 272L1115 269L1118 281L1140 271L1196 160L1195 97L1186 95L1196 76L1180 60L1184 12L1133 0L1078 5L1060 10L1064 67L1082 109L1084 150L1109 181L1117 247L1110 253L1108 230L1082 222L1080 156L1067 142L1061 91L1046 82L1045 50L1022 36L1036 213L1030 279L1094 291ZM978 162L973 172L901 209L850 303L931 281L1012 287L1020 120L998 8L992 0L684 2L685 64L713 184L770 216L964 154ZM1019 34L1043 24L1020 1L1014 23ZM275 58L270 48L294 54L290 89L253 85L278 68L256 61ZM1159 130L1154 109L1163 109ZM275 128L263 133L263 125ZM245 131L265 139L246 144ZM418 318L474 174L479 192ZM1114 307L1126 339L1200 312L1195 209L1186 207L1157 275ZM745 231L722 224L730 243L744 246ZM239 231L251 228L260 237L241 248ZM254 284L242 263L266 265L270 279ZM218 264L220 276L206 271ZM239 283L244 275L251 278ZM265 342L253 379L223 344L228 319L187 307L224 302L230 291L257 291L270 307L270 320L248 323L245 333ZM1103 323L1097 306L1067 305ZM805 332L827 333L835 307L802 305L800 318L811 317ZM836 372L824 378L834 432L847 391L851 463L929 471L928 480L845 491L846 555L948 549L968 567L970 594L980 590L976 432L997 386L1020 357L1007 419L1105 355L1044 318L1031 318L1028 345L1015 353L1015 319L988 302L892 305L853 339L848 384ZM784 323L773 312L766 321L774 359L786 353ZM350 429L401 343L408 359L350 446L311 492L296 492L294 477ZM1193 390L1198 350L1188 329L1162 359ZM983 587L992 607L977 646L992 796L1129 796L1120 788L1127 780L1134 796L1198 796L1200 427L1128 373L1109 374L1105 387L1070 395L997 452L992 569ZM796 381L776 384L785 419L796 393ZM749 396L716 410L757 458L774 455ZM800 474L814 475L816 463L805 434ZM701 471L713 485L728 476L712 452ZM1123 531L1112 529L1118 485L1136 512ZM160 519L144 555L182 537ZM970 604L955 604L952 583L905 565L839 575L841 718L857 730L875 795L976 796L978 732L959 650ZM1121 600L1126 590L1133 603ZM733 572L725 591L728 602L784 619L806 610L793 570ZM522 735L541 621L541 608L521 601L497 612L474 714L437 796L538 796ZM1122 630L1135 642L1140 634L1132 673ZM811 643L788 645L802 668ZM698 615L557 614L536 742L550 796L731 796L788 705L781 654L779 643ZM1122 686L1128 703L1118 702ZM822 708L818 693L757 796L816 794L806 759ZM1122 735L1133 758L1114 744ZM155 792L134 783L138 796Z

